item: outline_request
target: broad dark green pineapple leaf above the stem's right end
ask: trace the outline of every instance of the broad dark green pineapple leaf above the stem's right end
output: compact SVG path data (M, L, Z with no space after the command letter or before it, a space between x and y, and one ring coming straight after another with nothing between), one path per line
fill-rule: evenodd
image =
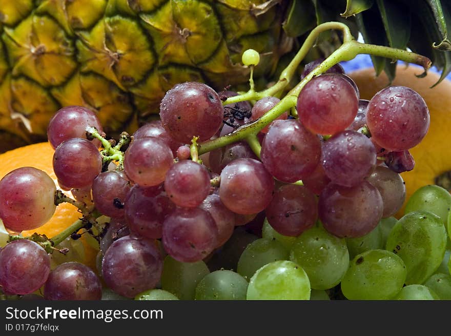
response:
M376 0L388 44L405 49L411 35L411 13L403 5L388 0Z

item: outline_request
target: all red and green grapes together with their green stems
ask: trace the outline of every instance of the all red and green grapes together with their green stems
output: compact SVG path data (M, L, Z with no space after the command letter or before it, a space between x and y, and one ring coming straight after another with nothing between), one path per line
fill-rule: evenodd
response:
M343 44L290 88L331 29ZM33 167L0 181L4 297L451 299L451 194L420 188L394 218L406 198L400 173L414 169L409 150L426 136L429 110L405 86L360 99L339 66L358 53L430 67L329 22L264 90L253 79L260 54L249 49L248 91L176 84L159 121L117 141L94 111L59 109L47 127L57 184ZM79 211L73 224L50 238L25 234L66 203ZM81 239L98 251L94 268L77 253Z

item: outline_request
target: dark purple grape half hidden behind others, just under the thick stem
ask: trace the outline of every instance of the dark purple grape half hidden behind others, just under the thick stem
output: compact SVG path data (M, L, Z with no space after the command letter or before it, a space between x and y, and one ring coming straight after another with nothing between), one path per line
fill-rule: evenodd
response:
M251 147L245 142L238 141L225 147L217 148L210 152L210 169L220 174L222 169L237 159L258 159Z

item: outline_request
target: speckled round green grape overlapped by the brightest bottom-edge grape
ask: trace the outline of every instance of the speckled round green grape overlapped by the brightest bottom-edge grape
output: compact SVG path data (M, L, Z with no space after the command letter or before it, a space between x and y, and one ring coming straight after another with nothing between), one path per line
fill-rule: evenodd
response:
M338 285L349 265L349 253L344 238L314 226L302 232L290 251L290 260L309 275L314 289L329 289Z

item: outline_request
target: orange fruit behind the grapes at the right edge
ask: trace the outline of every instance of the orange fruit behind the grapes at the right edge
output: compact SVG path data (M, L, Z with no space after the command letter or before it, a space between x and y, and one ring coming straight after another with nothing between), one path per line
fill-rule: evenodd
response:
M418 188L435 184L435 178L451 171L451 148L448 144L448 130L451 129L451 81L444 80L431 88L440 75L429 71L424 78L415 74L422 73L416 66L398 66L392 85L402 85L418 92L426 102L430 113L430 127L422 142L409 149L415 160L412 171L401 174L406 187L406 200ZM382 73L376 77L373 68L350 73L356 82L362 99L370 100L374 94L388 85L387 76ZM404 203L405 205L405 203ZM404 207L396 215L404 213Z

